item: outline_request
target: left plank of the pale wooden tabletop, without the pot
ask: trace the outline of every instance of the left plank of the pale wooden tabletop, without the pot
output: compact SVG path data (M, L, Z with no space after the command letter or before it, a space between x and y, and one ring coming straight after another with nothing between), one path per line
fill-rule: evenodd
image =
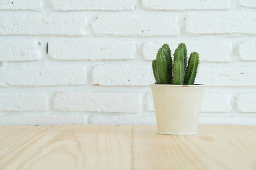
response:
M5 127L1 170L131 169L131 125Z

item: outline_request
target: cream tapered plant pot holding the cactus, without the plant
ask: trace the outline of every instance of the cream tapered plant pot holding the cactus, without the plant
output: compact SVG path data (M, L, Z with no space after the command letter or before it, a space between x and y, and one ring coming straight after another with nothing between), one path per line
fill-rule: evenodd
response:
M150 84L159 134L197 133L204 85Z

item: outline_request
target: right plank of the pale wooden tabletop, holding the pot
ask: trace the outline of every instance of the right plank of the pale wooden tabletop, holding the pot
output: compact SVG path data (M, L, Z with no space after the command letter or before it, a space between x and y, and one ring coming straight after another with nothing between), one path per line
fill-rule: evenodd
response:
M256 126L201 125L197 135L134 126L134 169L256 169Z

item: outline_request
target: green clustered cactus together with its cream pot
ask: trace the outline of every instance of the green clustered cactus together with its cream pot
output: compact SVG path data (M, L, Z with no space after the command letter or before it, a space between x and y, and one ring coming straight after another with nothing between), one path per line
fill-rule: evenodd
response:
M197 133L204 86L194 84L199 54L187 61L187 48L179 44L172 62L169 45L164 44L152 61L155 84L150 84L159 134L189 135Z

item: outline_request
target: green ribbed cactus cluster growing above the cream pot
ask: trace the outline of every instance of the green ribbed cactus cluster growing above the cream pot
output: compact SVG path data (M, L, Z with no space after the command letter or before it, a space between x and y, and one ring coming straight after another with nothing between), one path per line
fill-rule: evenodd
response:
M191 53L187 63L187 47L184 43L179 44L174 52L172 64L171 50L168 44L164 44L152 61L156 83L160 84L194 84L199 54Z

